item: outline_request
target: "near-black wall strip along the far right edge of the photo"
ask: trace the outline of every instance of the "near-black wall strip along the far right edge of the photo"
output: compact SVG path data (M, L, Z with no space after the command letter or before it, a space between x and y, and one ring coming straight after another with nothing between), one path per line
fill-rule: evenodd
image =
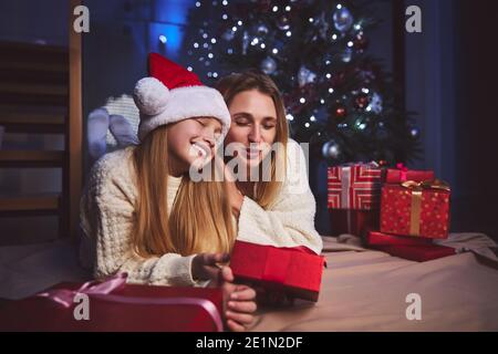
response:
M494 187L498 175L498 3L455 2L457 144L453 154L461 191L454 200L454 225L498 238L498 190Z

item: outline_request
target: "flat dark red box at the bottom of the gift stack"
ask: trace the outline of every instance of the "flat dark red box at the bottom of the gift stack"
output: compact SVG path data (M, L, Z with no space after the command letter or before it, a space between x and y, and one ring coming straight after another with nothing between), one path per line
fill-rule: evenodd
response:
M390 253L391 256L417 262L425 262L433 259L456 254L455 249L439 244L418 244L418 246L376 244L374 248L376 250Z

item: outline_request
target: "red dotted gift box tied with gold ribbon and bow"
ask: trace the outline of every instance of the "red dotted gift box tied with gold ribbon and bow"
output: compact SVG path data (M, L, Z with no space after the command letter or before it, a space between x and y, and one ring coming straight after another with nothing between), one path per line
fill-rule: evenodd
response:
M445 239L449 228L450 189L440 180L385 185L381 232Z

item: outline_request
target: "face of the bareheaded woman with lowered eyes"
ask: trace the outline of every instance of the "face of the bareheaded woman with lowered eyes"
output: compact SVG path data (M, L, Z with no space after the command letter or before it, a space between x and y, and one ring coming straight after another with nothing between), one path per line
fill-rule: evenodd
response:
M264 159L277 136L277 110L273 100L257 90L237 94L228 107L231 126L225 145L240 144L237 156L247 168Z

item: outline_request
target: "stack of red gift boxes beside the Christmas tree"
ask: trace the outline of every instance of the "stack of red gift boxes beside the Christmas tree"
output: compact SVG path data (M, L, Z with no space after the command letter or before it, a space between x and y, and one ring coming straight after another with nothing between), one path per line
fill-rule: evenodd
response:
M361 236L370 248L415 261L455 254L434 243L448 237L450 189L432 170L330 167L328 199L334 236Z

